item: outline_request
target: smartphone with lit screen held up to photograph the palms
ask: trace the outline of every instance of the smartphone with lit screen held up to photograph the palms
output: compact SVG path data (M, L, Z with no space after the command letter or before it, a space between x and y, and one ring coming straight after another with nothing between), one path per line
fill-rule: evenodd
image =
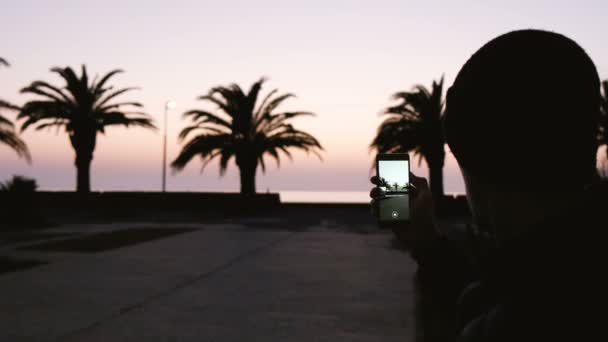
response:
M378 201L380 223L410 220L410 157L407 153L381 153L376 156L377 187L384 192Z

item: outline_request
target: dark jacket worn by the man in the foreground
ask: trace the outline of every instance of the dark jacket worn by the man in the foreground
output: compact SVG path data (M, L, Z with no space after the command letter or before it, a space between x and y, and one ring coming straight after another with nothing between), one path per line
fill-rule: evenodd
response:
M570 212L501 248L443 239L414 255L420 296L443 305L419 311L424 320L433 319L429 310L443 310L443 324L423 324L424 340L585 341L605 335L605 194L602 187L589 190Z

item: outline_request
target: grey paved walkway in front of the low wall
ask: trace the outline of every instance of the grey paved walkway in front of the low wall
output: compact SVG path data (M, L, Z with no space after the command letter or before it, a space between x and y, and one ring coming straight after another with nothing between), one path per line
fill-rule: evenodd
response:
M415 266L389 234L196 227L91 254L3 246L51 262L0 275L0 341L413 341Z

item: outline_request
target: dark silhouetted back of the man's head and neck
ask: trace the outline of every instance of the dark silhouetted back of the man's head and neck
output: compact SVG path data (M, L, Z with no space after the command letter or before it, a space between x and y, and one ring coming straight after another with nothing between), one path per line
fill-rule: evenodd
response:
M489 191L565 194L591 183L599 86L589 56L557 33L514 31L475 52L444 118L473 206Z

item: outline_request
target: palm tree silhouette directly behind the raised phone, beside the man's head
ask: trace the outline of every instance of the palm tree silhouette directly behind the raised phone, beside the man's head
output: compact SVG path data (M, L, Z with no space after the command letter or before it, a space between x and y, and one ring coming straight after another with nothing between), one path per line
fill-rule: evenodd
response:
M433 197L439 203L443 196L443 164L445 139L441 117L445 106L443 76L433 81L431 89L414 86L410 92L399 92L393 99L400 101L382 113L388 118L380 124L371 148L378 153L407 153L413 151L419 161L426 160Z

